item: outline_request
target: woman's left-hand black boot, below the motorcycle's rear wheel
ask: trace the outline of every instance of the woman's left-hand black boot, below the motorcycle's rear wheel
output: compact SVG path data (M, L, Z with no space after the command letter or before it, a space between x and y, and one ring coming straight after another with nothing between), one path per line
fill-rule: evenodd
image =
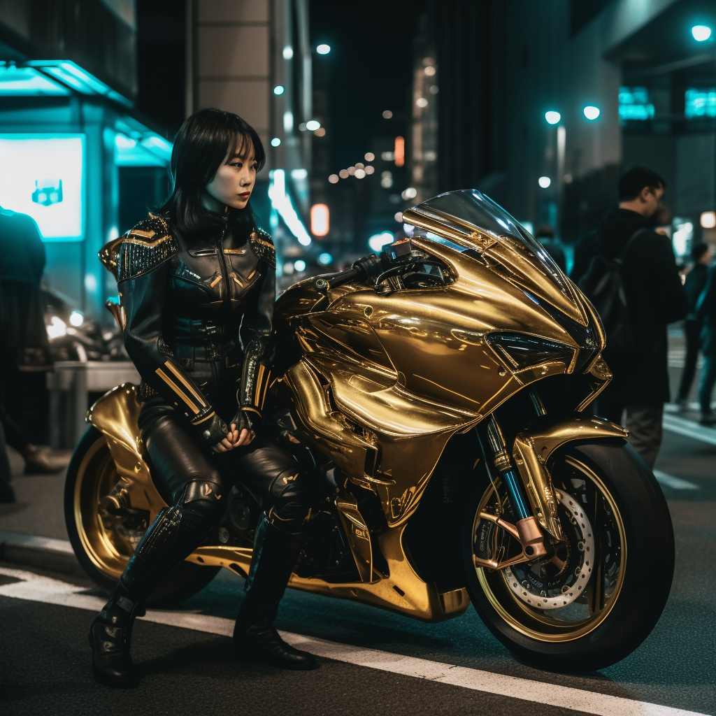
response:
M110 601L89 627L92 648L92 674L106 686L127 687L134 683L132 626L137 616L145 614L144 606L117 584Z

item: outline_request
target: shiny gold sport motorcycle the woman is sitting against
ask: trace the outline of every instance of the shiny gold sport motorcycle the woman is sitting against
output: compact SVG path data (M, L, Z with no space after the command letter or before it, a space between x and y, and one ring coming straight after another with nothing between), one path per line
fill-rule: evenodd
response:
M478 191L403 218L412 238L276 304L266 430L319 493L290 586L423 621L472 602L519 659L613 664L659 619L674 535L627 432L586 410L611 378L599 316ZM120 241L100 254L110 270ZM139 412L131 384L98 400L67 477L74 551L107 589L168 500ZM221 567L246 576L259 513L236 485L155 601Z

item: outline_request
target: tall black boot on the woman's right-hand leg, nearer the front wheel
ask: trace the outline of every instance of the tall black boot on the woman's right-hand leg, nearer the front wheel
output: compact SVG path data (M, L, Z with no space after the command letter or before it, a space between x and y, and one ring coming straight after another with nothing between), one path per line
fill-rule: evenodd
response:
M261 517L253 541L246 598L238 610L233 629L237 659L299 671L318 666L313 654L286 644L274 628L279 601L301 551L302 537L301 533L286 533L269 523L266 517Z

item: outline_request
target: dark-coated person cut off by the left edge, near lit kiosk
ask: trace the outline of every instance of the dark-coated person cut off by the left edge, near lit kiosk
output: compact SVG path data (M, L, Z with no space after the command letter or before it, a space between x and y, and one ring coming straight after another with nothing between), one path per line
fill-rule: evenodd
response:
M9 415L6 387L22 369L49 369L49 344L44 323L40 281L45 266L42 236L32 217L0 207L0 453L6 442L25 460L26 473L56 473L65 460L50 457L37 448ZM0 473L4 473L4 460ZM11 502L9 478L0 478L0 500Z

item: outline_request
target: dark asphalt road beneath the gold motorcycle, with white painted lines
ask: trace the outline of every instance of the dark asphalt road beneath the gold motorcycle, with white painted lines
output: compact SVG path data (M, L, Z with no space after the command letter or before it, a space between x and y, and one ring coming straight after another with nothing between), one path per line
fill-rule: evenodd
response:
M523 715L537 707L544 716L673 716L672 709L716 715L715 457L716 445L665 432L657 474L677 539L674 584L647 641L601 672L570 677L519 664L472 609L444 624L422 624L298 591L286 595L277 626L308 637L304 648L323 654L320 668L293 673L239 664L226 634L242 580L223 571L183 610L149 615L168 623L137 622L133 653L140 685L117 692L95 684L89 673L86 634L102 604L100 593L82 580L55 575L48 581L4 565L0 713ZM654 574L644 599L660 588ZM52 603L35 601L43 599ZM640 702L670 708L659 712Z

